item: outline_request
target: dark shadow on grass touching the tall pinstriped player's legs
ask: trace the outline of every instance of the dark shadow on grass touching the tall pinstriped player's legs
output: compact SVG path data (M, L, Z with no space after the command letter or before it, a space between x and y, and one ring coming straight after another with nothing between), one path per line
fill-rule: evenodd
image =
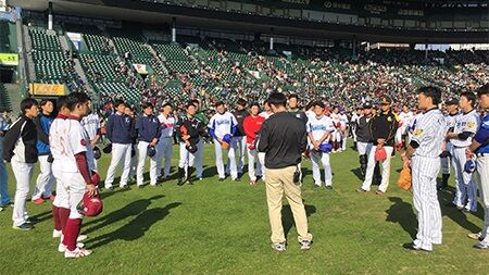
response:
M389 197L393 202L386 211L386 222L399 223L399 225L406 232L412 239L416 238L417 218L413 212L411 203L403 201L398 197Z

